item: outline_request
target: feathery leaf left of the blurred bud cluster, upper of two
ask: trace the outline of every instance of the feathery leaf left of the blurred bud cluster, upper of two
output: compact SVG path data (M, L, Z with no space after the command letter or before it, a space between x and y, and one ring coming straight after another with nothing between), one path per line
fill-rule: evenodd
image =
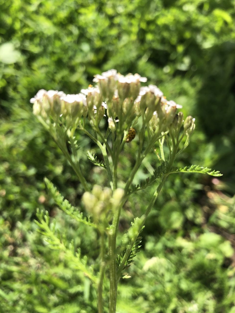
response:
M51 198L53 198L55 203L62 211L68 214L71 218L75 219L77 222L92 226L94 228L97 227L96 224L92 223L88 218L84 217L78 209L73 207L68 200L64 199L64 197L48 178L45 177L44 182Z

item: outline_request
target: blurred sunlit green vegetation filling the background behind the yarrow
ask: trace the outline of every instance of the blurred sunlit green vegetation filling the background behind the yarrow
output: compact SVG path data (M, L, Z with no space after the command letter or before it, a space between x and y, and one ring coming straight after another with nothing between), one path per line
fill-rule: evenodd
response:
M224 175L172 176L144 229L142 249L119 288L119 313L235 313L235 1L0 0L0 312L97 312L88 279L51 251L34 223L45 208L82 254L98 255L96 234L71 221L47 196L48 177L72 204L82 188L29 99L41 88L77 93L94 74L139 73L196 118L180 165ZM86 159L90 183L102 173ZM125 147L123 179L138 138ZM156 166L149 156L136 177ZM154 191L134 195L125 231ZM82 210L82 208L81 208Z

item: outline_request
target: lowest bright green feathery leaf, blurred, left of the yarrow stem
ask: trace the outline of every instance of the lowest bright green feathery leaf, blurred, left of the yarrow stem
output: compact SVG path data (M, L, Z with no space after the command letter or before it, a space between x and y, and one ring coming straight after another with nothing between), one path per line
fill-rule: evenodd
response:
M93 269L87 266L87 258L81 257L80 250L75 249L74 242L66 244L65 234L60 233L56 229L55 223L50 225L50 217L48 212L37 210L37 218L35 223L39 226L38 231L44 236L44 240L51 249L64 252L64 258L70 264L71 268L81 271L85 276L89 277L93 282L97 283L97 277L93 274Z

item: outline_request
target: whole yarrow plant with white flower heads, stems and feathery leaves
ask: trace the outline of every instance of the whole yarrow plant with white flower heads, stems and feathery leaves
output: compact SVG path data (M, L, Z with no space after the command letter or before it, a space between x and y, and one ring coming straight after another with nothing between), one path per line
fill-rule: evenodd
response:
M109 313L114 313L118 282L135 256L141 240L139 234L168 175L177 172L207 173L212 176L221 174L195 165L174 167L175 159L189 145L195 129L195 119L187 116L184 120L183 113L177 112L181 105L173 100L166 100L157 86L141 87L141 82L147 81L146 77L141 77L139 74L123 76L111 69L102 75L95 75L93 81L97 85L89 85L87 89L82 89L76 95L66 95L63 91L57 90L39 90L30 102L33 103L33 113L50 132L84 188L82 201L87 215L90 216L89 219L83 217L82 213L64 200L52 183L45 179L51 196L65 213L85 223L87 227L97 229L100 239L100 256L97 260L99 271L88 266L86 259L82 258L79 252L74 254L72 244L70 247L61 244L55 230L49 227L48 214L38 212L40 221L37 223L48 242L53 247L65 251L65 255L73 259L73 266L92 281L97 290L99 313L104 310L106 297L103 295L103 284L108 277ZM102 120L107 121L107 129L103 126L105 123L101 123ZM120 188L119 157L123 153L124 145L135 138L137 123L138 151L136 151L135 164L125 182L125 187ZM95 166L105 169L109 186L92 187L86 181L77 156L79 147L75 137L76 131L83 132L100 148L102 161L99 161L90 151L87 151L87 156ZM68 145L71 152L68 150ZM149 153L155 154L159 164L151 177L141 185L135 186L133 179ZM120 214L125 202L132 193L153 184L156 185L156 190L144 214L134 219L128 231L122 234L122 243L117 245Z

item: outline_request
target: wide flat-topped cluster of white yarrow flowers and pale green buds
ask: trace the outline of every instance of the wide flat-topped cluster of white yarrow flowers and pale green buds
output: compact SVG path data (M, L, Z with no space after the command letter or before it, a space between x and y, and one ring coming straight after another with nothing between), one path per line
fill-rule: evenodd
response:
M166 100L157 86L141 87L141 82L147 81L146 77L139 74L123 76L111 69L95 75L93 81L97 83L96 86L89 85L76 95L66 95L58 90L39 90L30 99L34 104L34 114L47 121L50 116L54 121L64 119L67 123L69 121L69 125L82 116L96 120L99 124L107 110L109 128L112 131L117 128L118 121L128 121L127 124L130 124L138 116L143 117L152 131L164 131L170 125L179 124L181 117L176 117L176 111L182 106L173 100ZM124 130L125 123L122 124Z

